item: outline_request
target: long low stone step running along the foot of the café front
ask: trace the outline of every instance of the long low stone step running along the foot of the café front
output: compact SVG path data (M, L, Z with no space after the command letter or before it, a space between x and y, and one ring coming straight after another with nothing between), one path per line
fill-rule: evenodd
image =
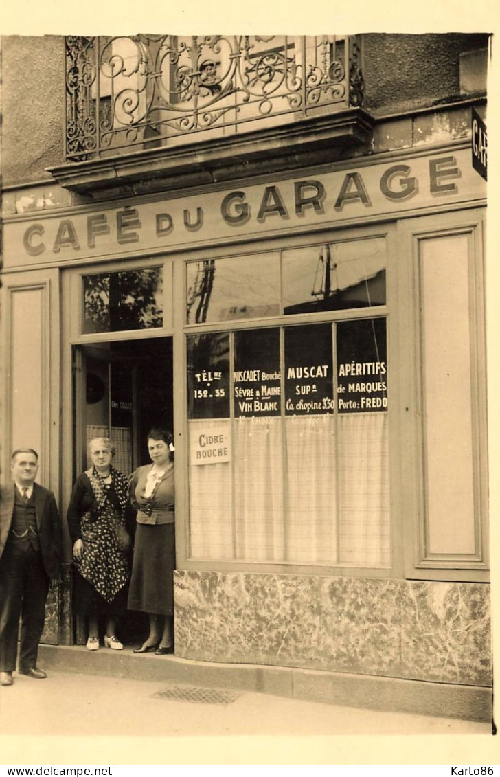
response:
M231 688L361 709L491 722L491 688L257 664L216 664L131 648L40 645L43 669Z

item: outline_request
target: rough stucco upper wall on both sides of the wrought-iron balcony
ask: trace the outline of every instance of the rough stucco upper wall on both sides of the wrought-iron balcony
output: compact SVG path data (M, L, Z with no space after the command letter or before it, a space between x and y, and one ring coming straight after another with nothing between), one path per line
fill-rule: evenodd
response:
M64 37L2 41L2 186L50 179L64 163ZM460 96L460 53L486 34L363 35L366 109L375 116Z

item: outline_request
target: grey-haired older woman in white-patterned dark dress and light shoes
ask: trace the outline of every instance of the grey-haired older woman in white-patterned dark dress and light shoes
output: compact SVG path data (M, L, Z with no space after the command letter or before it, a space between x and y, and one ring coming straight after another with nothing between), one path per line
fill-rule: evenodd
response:
M99 650L99 617L106 618L104 644L123 650L116 619L127 611L130 563L127 524L133 515L128 480L111 465L113 446L107 437L89 442L92 466L78 476L68 507L73 542L74 607L89 619L88 650Z

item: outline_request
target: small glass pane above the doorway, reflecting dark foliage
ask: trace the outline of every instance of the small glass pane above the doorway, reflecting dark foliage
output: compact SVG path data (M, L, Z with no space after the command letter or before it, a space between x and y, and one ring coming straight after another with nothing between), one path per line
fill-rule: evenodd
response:
M83 333L163 326L161 267L83 277Z

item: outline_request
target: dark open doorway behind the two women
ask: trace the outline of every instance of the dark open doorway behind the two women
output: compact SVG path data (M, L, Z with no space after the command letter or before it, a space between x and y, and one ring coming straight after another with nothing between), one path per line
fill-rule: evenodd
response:
M89 469L92 437L109 437L113 466L129 475L148 464L148 430L173 432L172 337L116 340L73 347L73 482ZM118 624L124 644L140 643L148 616L128 611ZM86 641L87 626L75 618L74 639Z

